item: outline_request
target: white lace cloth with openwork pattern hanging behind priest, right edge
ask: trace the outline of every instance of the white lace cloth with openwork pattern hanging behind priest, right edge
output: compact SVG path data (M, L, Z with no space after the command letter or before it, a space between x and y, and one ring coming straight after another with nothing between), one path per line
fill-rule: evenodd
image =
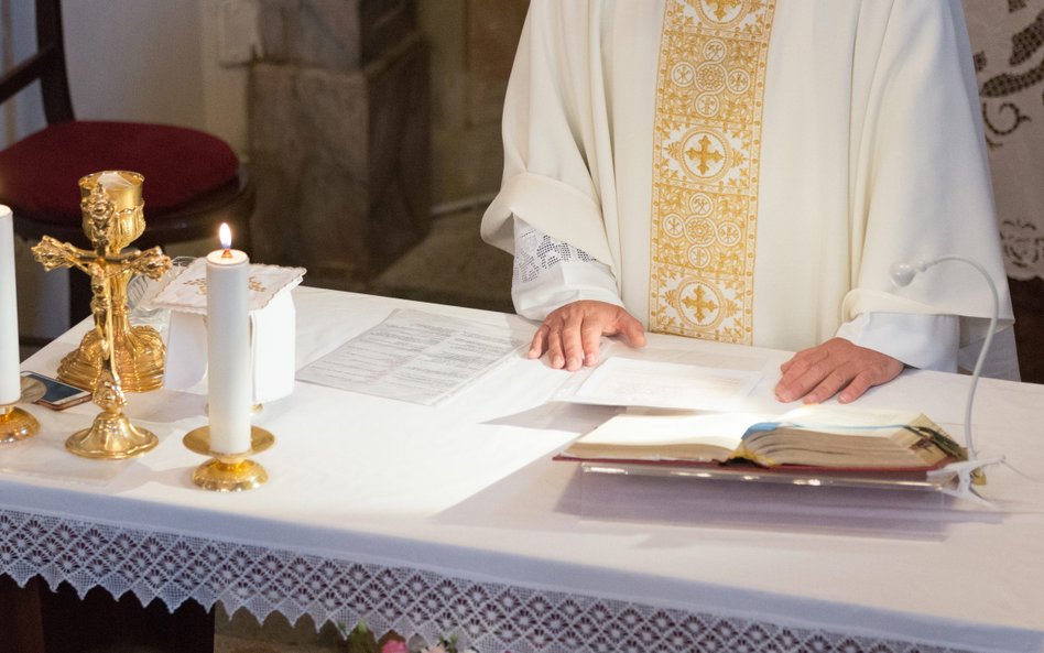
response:
M1044 279L1044 0L964 0L1008 275Z

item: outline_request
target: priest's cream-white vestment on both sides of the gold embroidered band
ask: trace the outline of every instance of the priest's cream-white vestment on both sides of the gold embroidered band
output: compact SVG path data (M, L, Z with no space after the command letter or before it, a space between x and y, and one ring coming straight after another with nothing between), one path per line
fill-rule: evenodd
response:
M554 307L547 296L558 305L598 298L649 323L657 64L673 1L531 2L504 106L503 186L482 236L514 252L521 220L602 265L573 257L554 272L557 287L540 289L543 300L522 298L533 311L515 295L523 315L546 314ZM751 3L689 4L720 18ZM949 337L956 349L959 337L974 347L991 311L974 269L942 263L903 289L890 280L894 262L945 254L988 270L1001 293L1001 324L1010 326L958 0L775 0L771 15L751 221L751 342L798 350L841 335L890 352L899 334L907 350L918 338ZM1007 331L1004 360L992 369L1011 378L1018 371ZM910 351L898 358L953 364Z

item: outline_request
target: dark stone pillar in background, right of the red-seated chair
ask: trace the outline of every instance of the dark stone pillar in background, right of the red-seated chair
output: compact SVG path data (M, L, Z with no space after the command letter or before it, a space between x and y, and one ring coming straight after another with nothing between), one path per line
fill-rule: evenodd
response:
M259 260L358 289L428 229L428 48L411 0L261 0Z

